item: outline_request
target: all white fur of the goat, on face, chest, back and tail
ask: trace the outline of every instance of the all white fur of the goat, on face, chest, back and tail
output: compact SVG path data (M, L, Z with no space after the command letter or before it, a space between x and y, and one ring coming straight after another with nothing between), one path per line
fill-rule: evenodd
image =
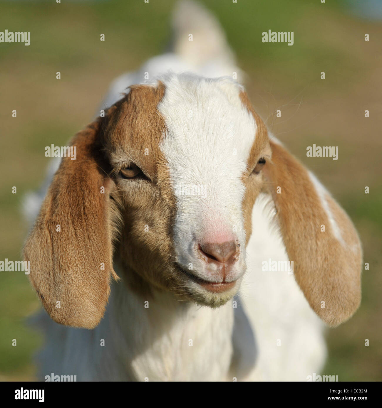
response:
M213 77L239 72L231 62L232 52L222 37L219 23L206 10L198 11L198 6L190 2L179 10L174 20L176 38L179 38L174 52L150 60L136 73L118 78L105 98L105 106L118 100L127 86L143 82L146 71L150 78L168 69ZM191 27L197 28L193 31L194 42L199 40L200 45L210 35L214 39L212 51L216 52L204 49L198 54L188 47L183 34L190 29L182 23L188 13L192 16ZM199 19L203 24L198 23ZM192 82L192 77L187 75L179 78ZM159 109L165 114L169 133L161 149L170 162L173 182L189 180L202 184L202 180L208 186L205 200L179 197L177 202L178 208L187 213L187 218L178 219L176 226L178 256L187 263L190 258L182 239L189 239L191 230L198 231L201 225L198 217L207 209L226 225L237 224L237 234L243 240L238 204L243 186L235 182L243 171L248 146L253 142L255 123L239 108L239 88L230 80L195 84L193 92L199 95L203 106L197 106L195 94L186 92L185 82L176 82L176 77L171 75L162 80L167 91ZM206 92L203 98L201 92ZM182 98L189 104L183 103ZM188 106L192 106L193 118L188 117ZM182 118L181 124L174 115ZM203 125L206 115L219 117L214 122L216 127L211 123ZM226 121L228 115L236 118L235 123ZM199 144L192 138L194 132L201 141ZM237 138L240 145L235 146ZM219 152L214 148L215 142L219 142ZM235 147L236 156L232 155ZM222 169L223 162L229 165ZM223 173L216 173L216 169ZM28 206L35 211L41 201L42 194L31 196ZM225 205L233 211L226 212ZM209 221L203 220L203 226L208 227ZM119 282L112 285L105 317L94 330L60 326L42 312L36 324L45 331L47 343L37 359L39 377L44 379L45 375L54 373L77 375L78 381L145 381L146 378L149 381L232 381L234 377L244 381L306 380L307 375L319 373L326 353L322 323L308 306L293 276L261 272L263 260L286 259L279 233L264 212L263 200L255 204L252 221L253 233L246 249L248 272L240 296L219 309L210 309L178 302L171 293L156 293L155 299L149 301L149 308L144 308L147 299ZM118 265L115 268L118 273ZM105 346L101 346L102 339ZM281 346L276 346L277 339L281 340Z

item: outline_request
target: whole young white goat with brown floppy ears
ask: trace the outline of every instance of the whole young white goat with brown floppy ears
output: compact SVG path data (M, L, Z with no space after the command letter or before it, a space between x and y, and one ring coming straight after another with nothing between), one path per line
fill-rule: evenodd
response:
M351 220L232 78L162 73L115 101L125 80L105 117L71 141L76 160L63 157L25 243L31 284L56 322L40 316L40 377L319 372L322 321L337 326L360 304ZM261 271L268 259L293 271Z

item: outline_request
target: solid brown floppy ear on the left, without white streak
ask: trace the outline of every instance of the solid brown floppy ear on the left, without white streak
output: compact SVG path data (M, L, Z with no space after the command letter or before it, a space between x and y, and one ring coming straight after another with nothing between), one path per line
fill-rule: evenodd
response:
M72 140L76 160L63 157L24 248L42 304L67 326L97 326L110 275L116 277L109 226L112 180L103 170L99 133L96 121Z

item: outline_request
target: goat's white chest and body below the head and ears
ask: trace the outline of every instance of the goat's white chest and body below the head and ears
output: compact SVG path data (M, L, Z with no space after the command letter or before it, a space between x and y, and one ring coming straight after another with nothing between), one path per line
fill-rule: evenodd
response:
M293 275L261 271L268 258L287 259L263 207L259 200L253 210L237 307L197 306L170 292L145 299L115 283L94 330L60 326L40 315L47 341L38 356L40 379L54 373L76 375L77 381L293 381L319 373L326 355L322 322Z

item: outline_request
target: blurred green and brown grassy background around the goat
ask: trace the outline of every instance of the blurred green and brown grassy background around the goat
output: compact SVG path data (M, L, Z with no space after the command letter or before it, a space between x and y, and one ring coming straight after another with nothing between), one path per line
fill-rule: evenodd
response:
M22 259L29 228L22 201L44 180L50 160L44 147L65 146L93 118L116 76L165 50L175 3L0 2L0 31L31 31L28 47L0 43L0 260ZM369 263L362 304L349 322L327 329L323 373L340 381L381 381L382 2L201 3L226 31L256 111L331 191L362 240ZM293 31L294 45L262 43L268 29ZM338 160L306 157L306 147L314 143L339 146ZM0 380L35 379L33 354L42 337L25 320L39 308L27 275L0 272Z

